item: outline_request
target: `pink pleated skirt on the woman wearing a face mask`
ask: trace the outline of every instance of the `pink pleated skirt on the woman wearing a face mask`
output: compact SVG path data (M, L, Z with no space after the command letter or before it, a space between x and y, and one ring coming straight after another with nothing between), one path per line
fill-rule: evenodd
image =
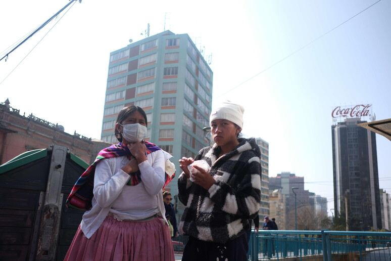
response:
M89 239L79 226L64 260L174 261L175 257L169 227L160 218L129 222L107 216Z

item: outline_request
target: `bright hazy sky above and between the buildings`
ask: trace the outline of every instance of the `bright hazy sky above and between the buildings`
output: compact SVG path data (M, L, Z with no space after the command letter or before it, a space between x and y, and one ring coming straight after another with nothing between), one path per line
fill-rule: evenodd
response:
M1 57L68 3L2 1ZM390 11L386 0L74 2L0 62L0 101L99 139L110 52L148 23L150 35L187 33L212 54L213 107L241 103L243 134L269 143L269 176L294 172L333 208L332 109L372 104L391 118ZM391 142L376 141L391 193Z

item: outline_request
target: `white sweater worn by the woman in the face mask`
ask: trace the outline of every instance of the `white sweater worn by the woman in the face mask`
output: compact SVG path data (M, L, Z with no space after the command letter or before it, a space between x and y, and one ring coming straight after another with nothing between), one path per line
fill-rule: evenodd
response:
M164 185L164 154L158 150L147 155L138 168L141 182L136 186L126 183L130 176L121 167L126 156L102 159L97 163L94 175L92 207L81 221L81 230L87 238L102 225L109 212L117 220L142 220L158 214L165 222L165 208L162 196Z

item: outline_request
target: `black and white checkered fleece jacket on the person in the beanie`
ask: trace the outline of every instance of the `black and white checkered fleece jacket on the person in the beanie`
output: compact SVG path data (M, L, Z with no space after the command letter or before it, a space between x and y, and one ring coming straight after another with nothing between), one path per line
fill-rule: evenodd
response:
M226 243L247 230L261 198L261 151L254 138L239 139L236 148L217 159L220 148L205 147L194 160L205 159L216 180L207 191L182 172L179 200L186 206L179 232L203 241Z

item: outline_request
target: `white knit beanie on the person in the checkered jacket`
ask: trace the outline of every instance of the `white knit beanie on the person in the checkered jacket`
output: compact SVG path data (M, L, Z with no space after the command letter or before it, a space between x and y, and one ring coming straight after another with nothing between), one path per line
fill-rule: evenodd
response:
M245 112L243 106L226 101L220 104L216 110L212 111L209 123L215 119L226 119L243 128L243 112Z

